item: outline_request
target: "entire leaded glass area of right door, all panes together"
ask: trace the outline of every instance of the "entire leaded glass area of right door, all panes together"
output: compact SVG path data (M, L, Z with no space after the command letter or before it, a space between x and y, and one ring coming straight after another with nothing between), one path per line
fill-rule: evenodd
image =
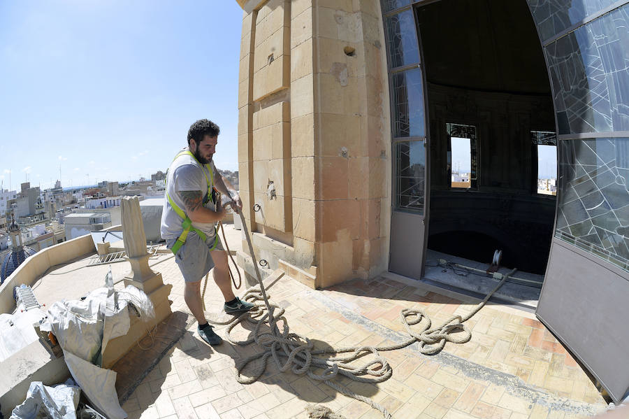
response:
M555 236L629 271L629 3L528 3L560 135Z

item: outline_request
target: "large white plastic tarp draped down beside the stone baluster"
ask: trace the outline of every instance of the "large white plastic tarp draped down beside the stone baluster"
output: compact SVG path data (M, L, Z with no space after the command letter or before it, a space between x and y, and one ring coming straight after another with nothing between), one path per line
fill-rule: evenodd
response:
M154 318L147 295L132 285L122 291L98 288L82 301L57 301L48 308L42 330L52 331L64 351L68 369L89 402L110 419L124 419L115 390L116 373L100 367L108 341L129 331L129 315Z

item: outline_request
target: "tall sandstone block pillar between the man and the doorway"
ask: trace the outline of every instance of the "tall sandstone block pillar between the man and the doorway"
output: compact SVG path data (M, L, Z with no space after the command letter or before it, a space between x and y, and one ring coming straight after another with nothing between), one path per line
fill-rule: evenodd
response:
M239 3L252 8L243 15L238 161L254 250L283 243L270 266L283 260L315 287L385 271L391 129L379 1Z

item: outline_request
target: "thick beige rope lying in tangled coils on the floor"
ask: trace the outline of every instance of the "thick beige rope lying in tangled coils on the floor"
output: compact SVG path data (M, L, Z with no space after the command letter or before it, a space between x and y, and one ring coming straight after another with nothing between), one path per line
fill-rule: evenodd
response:
M361 383L382 383L391 378L393 369L386 358L380 355L380 352L387 350L396 350L405 348L412 343L419 343L419 350L425 355L434 355L442 350L446 342L465 343L470 341L472 334L463 322L472 318L489 300L491 295L505 283L505 280L514 274L516 269L505 275L500 283L467 315L452 315L448 320L442 322L438 327L431 328L431 319L418 308L405 308L400 313L400 320L405 326L410 339L389 346L352 346L345 348L332 349L315 349L314 344L305 336L300 336L289 331L288 323L284 318L284 308L277 304L271 303L263 286L261 276L254 257L254 251L247 232L247 226L240 212L245 237L250 248L258 284L251 287L245 292L245 301L255 304L252 311L243 313L237 318L232 318L225 322L208 320L217 325L229 325L226 329L226 339L235 345L246 346L250 343L257 343L263 350L250 357L244 358L236 364L236 379L242 384L251 384L257 381L264 371L270 359L275 362L277 369L280 371L293 371L294 374L306 374L315 381L323 381L326 385L337 390L338 392L352 397L353 399L365 402L374 409L382 412L386 419L391 419L391 413L384 406L377 404L369 397L356 394L352 390L334 382L334 379L340 374L353 381ZM275 311L277 310L277 313ZM243 322L250 322L254 325L252 336L245 341L237 341L231 337L231 332L237 325ZM419 330L413 330L411 326L420 325ZM280 327L281 326L281 327ZM281 331L280 331L281 328ZM455 332L461 332L454 335ZM347 356L336 357L315 357L313 355L337 355L340 353L351 353ZM352 362L361 357L373 355L371 360L364 364L354 367ZM258 362L254 362L259 360ZM243 375L243 370L250 364L247 376ZM309 406L308 413L310 418L328 418L342 419L330 409L324 406Z

